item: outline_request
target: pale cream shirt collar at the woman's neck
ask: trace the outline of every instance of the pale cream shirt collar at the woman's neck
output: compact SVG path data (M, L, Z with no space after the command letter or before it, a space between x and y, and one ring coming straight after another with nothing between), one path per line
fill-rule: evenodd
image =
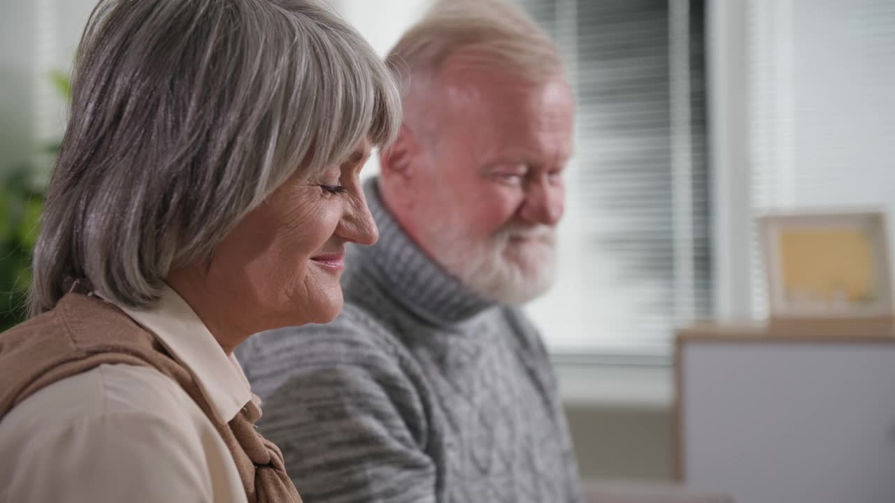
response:
M192 373L218 421L230 422L250 401L260 404L234 355L224 353L199 316L170 286L165 286L158 304L149 311L118 307L154 334Z

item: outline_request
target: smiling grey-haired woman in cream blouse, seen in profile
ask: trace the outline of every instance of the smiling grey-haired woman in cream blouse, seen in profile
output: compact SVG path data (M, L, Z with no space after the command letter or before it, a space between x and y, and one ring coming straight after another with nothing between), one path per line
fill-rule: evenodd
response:
M400 124L317 0L103 0L34 255L0 335L0 499L298 501L232 356L332 320L359 170Z

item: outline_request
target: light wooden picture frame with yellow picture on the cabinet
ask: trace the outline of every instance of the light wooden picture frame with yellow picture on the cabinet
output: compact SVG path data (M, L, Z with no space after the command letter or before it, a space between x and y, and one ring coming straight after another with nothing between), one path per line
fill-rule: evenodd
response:
M771 319L891 317L882 212L759 217Z

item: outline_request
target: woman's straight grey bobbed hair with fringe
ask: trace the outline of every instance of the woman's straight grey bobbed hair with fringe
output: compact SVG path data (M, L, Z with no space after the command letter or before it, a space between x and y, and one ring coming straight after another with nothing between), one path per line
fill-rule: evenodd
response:
M31 315L86 278L135 309L296 169L401 123L386 65L320 0L102 0L34 251Z

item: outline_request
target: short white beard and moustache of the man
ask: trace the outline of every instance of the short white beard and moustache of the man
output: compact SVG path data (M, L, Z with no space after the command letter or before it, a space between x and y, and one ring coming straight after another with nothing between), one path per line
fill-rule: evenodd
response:
M521 304L550 288L556 269L556 229L509 224L487 242L474 242L462 226L441 222L435 260L490 301ZM448 228L450 227L450 228Z

